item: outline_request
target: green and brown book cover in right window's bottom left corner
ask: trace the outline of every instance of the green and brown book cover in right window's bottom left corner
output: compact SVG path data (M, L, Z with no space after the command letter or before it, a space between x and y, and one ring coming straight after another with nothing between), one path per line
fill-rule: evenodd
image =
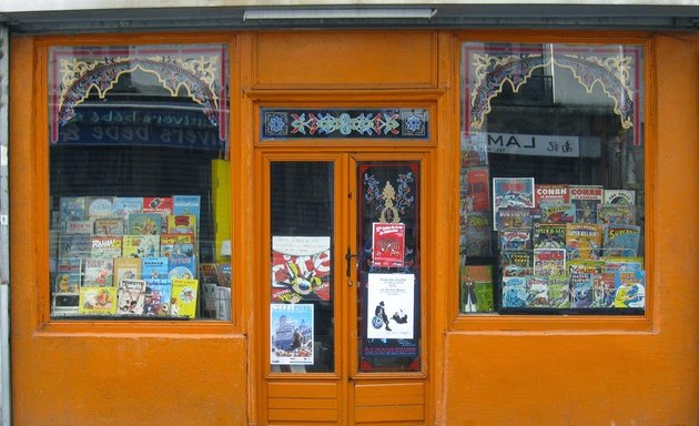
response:
M474 312L493 312L493 266L468 265L460 267L460 305L462 314Z

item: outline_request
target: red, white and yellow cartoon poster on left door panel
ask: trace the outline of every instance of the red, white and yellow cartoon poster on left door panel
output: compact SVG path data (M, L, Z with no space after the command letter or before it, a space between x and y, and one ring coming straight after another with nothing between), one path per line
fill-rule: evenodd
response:
M272 237L272 302L330 301L330 236Z

